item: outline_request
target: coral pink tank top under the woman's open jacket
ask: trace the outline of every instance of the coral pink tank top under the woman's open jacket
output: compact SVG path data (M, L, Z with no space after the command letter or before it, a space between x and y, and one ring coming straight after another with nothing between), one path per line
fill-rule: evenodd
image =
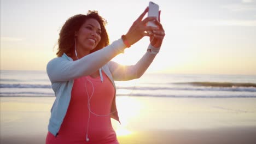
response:
M118 143L110 121L110 115L108 115L110 114L115 90L106 74L102 74L103 82L101 82L100 76L95 79L84 76L74 80L71 101L66 116L61 124L59 134L53 137L50 143ZM97 115L107 116L96 116L90 113L90 118L88 118L88 94L89 98L92 94L90 100L91 111ZM86 141L86 133L90 139L88 142Z

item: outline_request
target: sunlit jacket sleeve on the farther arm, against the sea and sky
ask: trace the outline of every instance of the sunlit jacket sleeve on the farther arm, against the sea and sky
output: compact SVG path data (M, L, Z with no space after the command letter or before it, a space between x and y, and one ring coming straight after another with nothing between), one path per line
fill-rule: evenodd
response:
M155 48L152 45L149 45L147 52L135 65L121 65L110 61L108 67L112 73L113 79L115 81L138 79L148 69L159 50L160 48Z

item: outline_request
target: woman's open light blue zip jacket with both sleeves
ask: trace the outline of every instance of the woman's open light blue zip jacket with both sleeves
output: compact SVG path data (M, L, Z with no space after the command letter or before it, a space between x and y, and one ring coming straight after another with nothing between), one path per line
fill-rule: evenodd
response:
M115 88L114 80L125 81L141 77L160 50L160 48L149 45L145 55L135 65L124 66L110 61L119 53L124 52L125 48L123 40L119 39L77 61L73 61L71 57L64 53L62 57L56 57L47 64L47 74L56 96L53 107L51 107L51 117L48 125L51 134L56 136L60 130L71 99L74 79L100 70L101 80L103 81L101 73L101 70L103 70ZM112 101L111 112L114 112L111 117L119 121L115 96Z

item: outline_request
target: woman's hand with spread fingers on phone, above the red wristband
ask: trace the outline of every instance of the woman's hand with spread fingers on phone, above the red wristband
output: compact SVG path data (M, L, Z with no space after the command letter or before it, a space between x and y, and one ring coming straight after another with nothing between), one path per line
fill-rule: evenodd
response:
M147 13L148 7L138 17L138 19L135 22L133 22L129 31L125 34L126 39L130 45L135 44L144 36L150 36L150 34L147 33L147 31L158 30L158 27L147 26L147 22L156 20L156 17L147 17L146 19L142 20Z

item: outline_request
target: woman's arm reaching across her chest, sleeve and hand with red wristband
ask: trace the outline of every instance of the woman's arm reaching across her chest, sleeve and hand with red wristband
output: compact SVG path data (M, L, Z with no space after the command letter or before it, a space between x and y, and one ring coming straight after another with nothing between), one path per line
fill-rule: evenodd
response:
M147 11L148 8L133 22L133 25L126 33L130 45L136 43L144 36L150 36L148 33L145 33L145 31L154 31L157 29L156 27L145 25L148 21L156 20L156 17L147 17L142 20ZM117 56L120 52L123 52L126 46L123 39L119 39L114 41L111 45L90 53L77 61L72 61L72 59L67 58L67 56L66 58L65 56L54 58L48 63L46 68L49 79L53 83L90 75L103 67L103 65L108 63L110 59Z

